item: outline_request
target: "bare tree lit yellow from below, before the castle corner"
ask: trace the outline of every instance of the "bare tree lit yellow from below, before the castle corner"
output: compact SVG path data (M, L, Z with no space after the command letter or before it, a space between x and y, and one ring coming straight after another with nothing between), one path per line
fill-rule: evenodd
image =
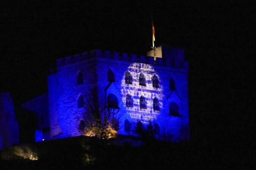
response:
M86 136L109 139L117 136L119 108L108 106L107 101L99 102L97 90L85 96L83 115L79 118L78 129Z

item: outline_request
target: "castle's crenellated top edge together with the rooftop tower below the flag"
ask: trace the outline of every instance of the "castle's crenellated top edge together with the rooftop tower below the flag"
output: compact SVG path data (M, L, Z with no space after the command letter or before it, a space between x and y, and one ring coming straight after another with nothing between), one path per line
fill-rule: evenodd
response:
M156 53L154 54L154 50ZM153 56L152 56L153 55ZM184 49L173 48L168 46L159 46L149 51L147 56L121 53L116 51L103 51L100 49L94 49L89 52L83 52L81 54L75 54L73 56L67 56L57 59L57 67L65 66L72 63L88 60L91 58L108 58L113 60L130 61L136 63L160 65L175 67L181 69L188 69L189 63L184 61Z

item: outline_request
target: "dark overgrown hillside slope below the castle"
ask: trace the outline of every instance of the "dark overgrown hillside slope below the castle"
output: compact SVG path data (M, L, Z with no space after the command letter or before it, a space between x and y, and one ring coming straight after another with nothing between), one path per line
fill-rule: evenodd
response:
M77 136L30 144L37 161L2 161L1 169L248 169L253 152L241 145L153 141L139 147L102 145ZM7 150L7 149L6 149ZM5 150L5 151L6 151ZM9 149L10 150L10 149ZM238 151L239 150L239 151ZM3 155L3 150L0 151Z

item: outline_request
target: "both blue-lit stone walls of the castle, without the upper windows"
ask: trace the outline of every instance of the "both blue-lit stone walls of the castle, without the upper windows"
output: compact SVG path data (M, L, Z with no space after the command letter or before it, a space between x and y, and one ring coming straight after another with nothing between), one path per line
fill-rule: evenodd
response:
M187 89L187 63L184 55L181 60L175 55L175 49L171 49L172 56L168 54L167 60L163 58L136 56L102 52L94 50L89 53L74 55L57 60L56 73L48 76L48 96L50 112L50 133L52 138L64 138L81 135L78 132L78 117L84 108L77 108L77 100L80 95L84 97L90 89L98 87L98 98L105 101L106 95L113 93L119 101L119 134L128 135L124 130L124 121L130 123L140 120L144 126L151 119L158 123L161 136L173 136L172 140L188 138L188 133L180 133L188 128L188 89ZM180 49L179 49L180 50ZM175 62L170 57L176 57ZM108 69L115 74L115 82L109 83L107 79ZM129 71L133 76L133 84L125 84L125 72ZM76 76L81 71L83 84L77 85ZM139 74L146 78L146 86L139 85ZM159 88L153 87L152 77L156 74L159 79ZM173 77L176 90L169 89L169 79ZM133 107L126 107L126 94L133 97ZM139 107L139 98L143 95L147 109ZM159 109L153 110L153 99L159 100ZM179 105L179 116L169 115L169 103L175 101Z

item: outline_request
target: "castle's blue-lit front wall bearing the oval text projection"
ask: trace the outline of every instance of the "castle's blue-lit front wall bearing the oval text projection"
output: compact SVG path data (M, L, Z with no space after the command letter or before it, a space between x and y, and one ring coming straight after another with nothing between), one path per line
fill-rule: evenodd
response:
M112 69L115 74L115 82L109 86L107 80L108 69ZM125 84L125 72L129 71L133 76L133 84ZM146 86L139 85L139 74L142 72L146 78ZM156 74L159 79L160 88L153 87L152 78ZM184 138L180 136L180 130L188 127L188 88L187 88L187 70L172 67L154 66L151 64L141 64L133 62L124 62L111 59L97 59L97 77L98 77L98 95L104 100L105 94L113 93L119 101L119 134L128 135L124 131L124 121L132 124L140 120L144 127L149 120L158 123L161 135L173 136L173 140ZM169 79L173 77L176 83L176 90L169 89ZM126 94L133 97L133 107L126 107ZM143 95L146 100L147 109L139 107L139 98ZM159 100L159 111L153 110L153 99ZM175 101L180 107L180 116L169 115L169 103ZM186 136L188 137L188 136Z

